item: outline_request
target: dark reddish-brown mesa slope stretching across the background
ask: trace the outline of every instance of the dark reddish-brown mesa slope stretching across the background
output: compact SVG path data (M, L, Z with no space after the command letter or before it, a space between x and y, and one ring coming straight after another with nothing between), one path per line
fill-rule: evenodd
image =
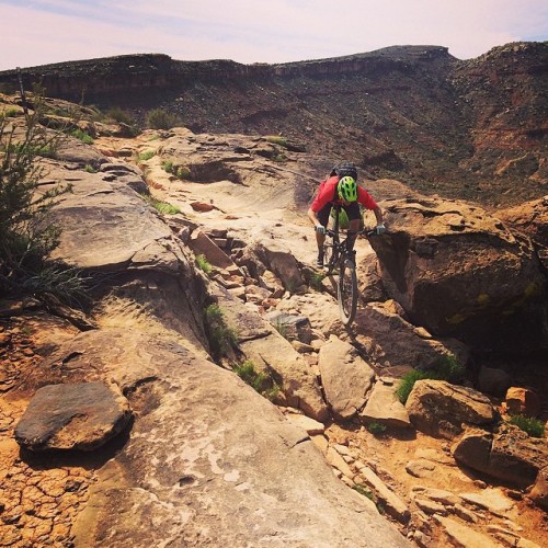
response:
M194 132L282 134L304 142L322 173L345 158L370 178L498 205L548 192L547 72L548 43L516 43L467 61L438 46L283 65L135 55L22 78L141 121L162 107ZM16 88L16 76L0 72L0 87Z

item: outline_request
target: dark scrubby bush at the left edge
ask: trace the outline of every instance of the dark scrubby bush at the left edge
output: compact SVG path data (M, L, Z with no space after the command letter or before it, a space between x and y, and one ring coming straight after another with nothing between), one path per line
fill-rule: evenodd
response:
M62 133L39 125L43 104L43 96L36 94L24 127L0 121L0 292L49 292L70 300L67 297L81 289L79 276L73 270L46 263L60 236L50 209L70 186L39 190L41 158L55 156L64 138Z

